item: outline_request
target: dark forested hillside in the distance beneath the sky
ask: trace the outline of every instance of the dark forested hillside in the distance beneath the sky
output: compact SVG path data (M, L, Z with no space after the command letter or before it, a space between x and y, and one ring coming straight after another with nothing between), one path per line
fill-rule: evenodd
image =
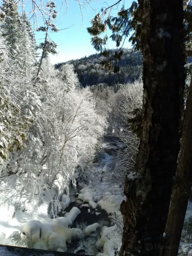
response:
M110 50L113 53L115 50ZM68 62L61 62L55 65L59 69L63 64L73 64L78 79L83 87L93 86L94 84L105 83L108 86L123 84L138 79L142 72L143 57L141 52L133 49L123 49L124 53L121 60L118 61L120 72L115 74L107 71L100 65L104 58L100 54L93 54L89 57L83 57Z

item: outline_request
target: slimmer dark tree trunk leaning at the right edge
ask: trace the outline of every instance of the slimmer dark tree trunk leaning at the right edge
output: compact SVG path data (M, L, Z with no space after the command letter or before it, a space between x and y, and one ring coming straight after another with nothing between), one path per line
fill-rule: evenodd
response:
M170 200L162 255L177 256L192 182L192 73L183 122L181 152Z

